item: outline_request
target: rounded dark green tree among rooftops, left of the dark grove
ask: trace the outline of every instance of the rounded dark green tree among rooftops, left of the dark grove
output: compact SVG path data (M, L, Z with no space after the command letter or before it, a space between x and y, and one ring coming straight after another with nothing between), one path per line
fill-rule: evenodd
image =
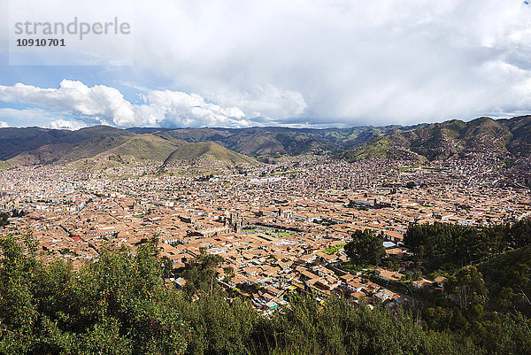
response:
M383 233L376 235L370 229L357 230L352 235L352 241L344 246L344 251L356 265L379 265L385 256Z

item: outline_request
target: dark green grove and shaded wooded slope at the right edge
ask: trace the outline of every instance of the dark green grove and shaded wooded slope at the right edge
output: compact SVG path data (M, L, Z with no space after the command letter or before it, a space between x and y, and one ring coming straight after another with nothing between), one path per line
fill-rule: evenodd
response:
M477 266L486 290L474 306L478 317L483 308L531 317L531 220L484 228L444 223L410 226L404 242L427 271L442 269L458 276L470 272L467 266ZM474 296L480 293L476 290ZM455 324L450 320L456 312L437 313L445 327Z

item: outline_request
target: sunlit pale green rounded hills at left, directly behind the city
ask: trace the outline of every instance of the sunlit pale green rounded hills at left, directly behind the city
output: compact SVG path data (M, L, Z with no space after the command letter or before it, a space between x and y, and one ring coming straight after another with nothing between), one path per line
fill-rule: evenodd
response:
M1 131L1 130L0 130ZM31 133L34 132L32 129ZM44 130L44 133L47 131ZM63 132L58 143L41 140L41 146L20 152L9 158L6 166L30 166L39 164L70 163L85 159L97 160L97 166L115 166L134 161L151 161L168 165L177 160L196 161L200 158L222 166L238 164L257 164L253 158L245 157L215 143L187 143L171 135L151 135L131 132L129 130L96 126L83 128L74 132ZM157 131L158 133L161 133ZM57 134L56 130L51 130ZM29 143L29 144L28 144ZM38 143L31 139L25 142L33 148ZM9 152L4 152L9 156Z

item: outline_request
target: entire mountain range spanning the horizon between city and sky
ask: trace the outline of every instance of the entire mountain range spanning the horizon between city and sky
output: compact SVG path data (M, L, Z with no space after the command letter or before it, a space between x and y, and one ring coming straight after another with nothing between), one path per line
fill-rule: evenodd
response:
M190 144L190 143L215 143ZM206 147L206 148L205 148ZM220 148L231 154L220 153ZM173 152L175 153L173 154ZM509 120L486 117L417 126L351 128L157 128L109 126L77 131L40 127L0 128L4 166L72 162L106 156L165 162L201 154L245 161L249 157L334 154L337 158L407 158L418 161L463 157L473 152L519 158L531 153L531 116ZM239 153L242 156L238 156ZM199 156L197 155L199 154ZM236 158L238 157L238 158ZM254 159L250 159L254 161Z

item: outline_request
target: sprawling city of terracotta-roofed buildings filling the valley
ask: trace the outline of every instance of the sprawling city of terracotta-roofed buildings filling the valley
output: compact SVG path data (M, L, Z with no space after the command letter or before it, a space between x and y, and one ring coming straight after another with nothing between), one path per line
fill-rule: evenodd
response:
M2 233L32 233L42 259L64 258L74 266L97 258L104 246L135 251L158 235L161 255L175 269L202 252L220 255L219 282L261 309L274 309L296 289L400 305L407 297L385 282L403 280L401 270L377 268L373 275L382 282L375 282L339 267L353 232L383 232L389 258L400 259L409 253L403 242L412 223L483 226L531 215L530 189L502 183L500 166L407 164L307 156L205 168L204 174L185 163L165 171L19 167L0 172L0 209L26 214L10 219ZM182 287L185 281L171 282ZM443 278L411 284L442 289Z

